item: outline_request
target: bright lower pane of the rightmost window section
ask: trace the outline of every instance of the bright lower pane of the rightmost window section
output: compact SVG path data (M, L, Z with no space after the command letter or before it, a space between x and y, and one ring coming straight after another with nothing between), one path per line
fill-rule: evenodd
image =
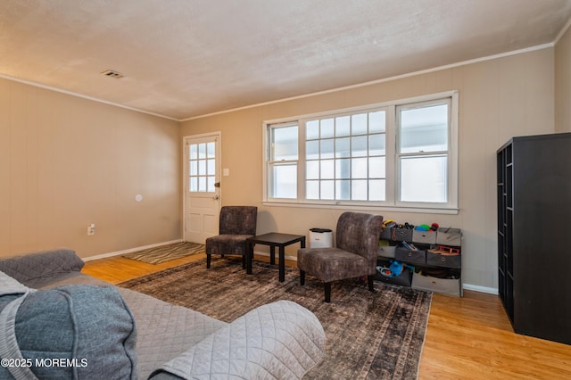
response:
M401 157L401 201L446 202L447 156Z

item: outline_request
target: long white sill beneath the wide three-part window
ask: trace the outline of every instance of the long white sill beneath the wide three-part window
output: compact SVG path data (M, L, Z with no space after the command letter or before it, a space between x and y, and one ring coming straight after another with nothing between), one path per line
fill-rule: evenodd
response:
M390 211L390 212L413 212L422 214L447 214L458 215L458 208L438 208L438 207L401 207L401 206L378 206L352 203L311 203L311 202L279 202L263 201L264 206L269 207L292 207L301 209L336 209L336 210L357 210L357 211Z

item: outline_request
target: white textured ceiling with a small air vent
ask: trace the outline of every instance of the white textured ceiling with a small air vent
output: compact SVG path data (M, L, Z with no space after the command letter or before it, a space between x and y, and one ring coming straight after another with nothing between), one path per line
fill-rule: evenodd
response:
M3 0L0 76L184 120L552 44L570 18L570 0Z

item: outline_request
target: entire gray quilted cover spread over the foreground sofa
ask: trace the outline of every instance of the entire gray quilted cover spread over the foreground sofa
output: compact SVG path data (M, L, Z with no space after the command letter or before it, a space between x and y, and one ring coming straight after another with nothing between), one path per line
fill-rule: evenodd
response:
M109 285L80 272L71 250L0 260L0 271L30 288ZM279 301L231 323L118 288L137 325L137 373L156 379L294 379L322 359L325 332L310 310ZM176 377L178 376L178 377Z

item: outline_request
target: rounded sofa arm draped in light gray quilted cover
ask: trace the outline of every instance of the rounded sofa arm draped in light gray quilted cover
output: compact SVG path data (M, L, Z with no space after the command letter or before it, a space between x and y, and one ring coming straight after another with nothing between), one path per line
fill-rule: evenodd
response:
M295 302L278 301L235 319L161 369L184 379L297 379L324 350L318 318Z

